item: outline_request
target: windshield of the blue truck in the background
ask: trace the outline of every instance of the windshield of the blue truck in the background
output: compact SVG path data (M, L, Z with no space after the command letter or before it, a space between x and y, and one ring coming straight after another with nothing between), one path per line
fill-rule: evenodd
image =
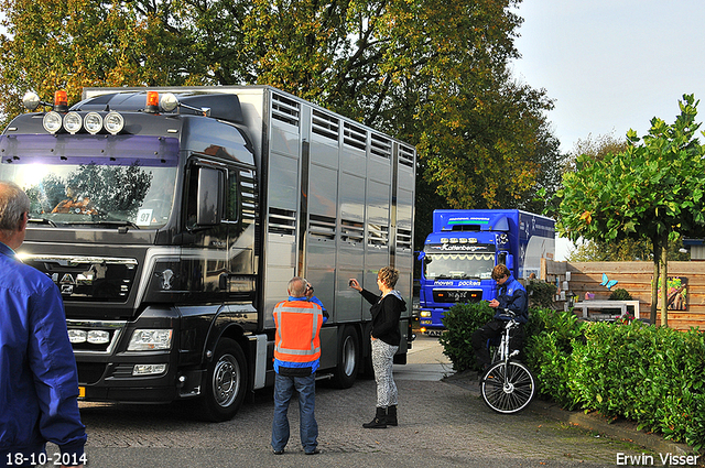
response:
M426 253L424 275L429 280L489 280L494 266L494 253Z

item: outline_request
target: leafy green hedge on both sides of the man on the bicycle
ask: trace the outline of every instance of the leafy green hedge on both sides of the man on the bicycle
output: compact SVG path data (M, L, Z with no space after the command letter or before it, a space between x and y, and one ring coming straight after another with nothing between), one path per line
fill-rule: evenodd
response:
M457 371L475 369L473 331L491 318L485 303L451 308L441 338ZM586 323L532 308L527 363L540 394L568 410L598 411L705 448L705 336L641 322Z

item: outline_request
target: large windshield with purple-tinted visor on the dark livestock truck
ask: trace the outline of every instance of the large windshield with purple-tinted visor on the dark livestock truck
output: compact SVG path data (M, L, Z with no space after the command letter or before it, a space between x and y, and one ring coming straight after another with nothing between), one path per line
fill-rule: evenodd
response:
M30 221L159 228L171 214L176 138L0 137L0 179L22 187Z

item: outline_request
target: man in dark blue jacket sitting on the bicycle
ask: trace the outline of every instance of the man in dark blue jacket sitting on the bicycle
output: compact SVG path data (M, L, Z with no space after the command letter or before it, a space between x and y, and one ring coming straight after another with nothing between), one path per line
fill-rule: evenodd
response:
M529 322L529 302L527 301L527 290L519 281L511 275L505 264L498 264L492 269L492 280L497 282L497 298L489 302L489 306L495 308L495 317L473 334L473 349L475 358L482 376L490 364L489 349L487 340L499 338L505 331L505 325L511 318L506 315L505 309L516 314L514 319L520 324ZM511 349L521 349L524 341L523 327L517 327L511 331L509 346Z

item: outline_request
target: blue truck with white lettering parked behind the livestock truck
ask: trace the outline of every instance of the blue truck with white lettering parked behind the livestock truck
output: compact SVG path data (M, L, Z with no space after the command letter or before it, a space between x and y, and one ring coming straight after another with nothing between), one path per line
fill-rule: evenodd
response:
M442 331L443 316L456 303L495 298L495 265L505 263L516 279L529 280L554 251L555 222L544 216L519 209L434 210L433 232L419 253L421 331Z

